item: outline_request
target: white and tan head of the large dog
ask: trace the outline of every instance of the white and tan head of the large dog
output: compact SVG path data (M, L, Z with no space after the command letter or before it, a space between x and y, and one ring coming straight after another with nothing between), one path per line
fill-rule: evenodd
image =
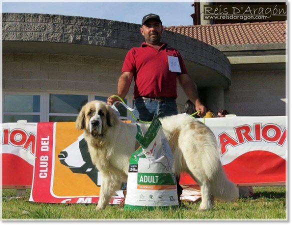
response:
M103 101L93 100L80 110L76 121L76 129L85 129L92 136L103 136L108 127L116 125L118 117L111 106Z

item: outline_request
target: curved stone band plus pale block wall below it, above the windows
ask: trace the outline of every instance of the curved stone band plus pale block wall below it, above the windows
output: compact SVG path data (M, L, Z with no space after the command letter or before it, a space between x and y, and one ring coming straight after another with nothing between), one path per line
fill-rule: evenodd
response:
M116 93L126 51L143 41L140 24L99 18L2 13L2 22L4 91ZM167 30L162 41L180 51L198 85L230 84L230 62L218 49ZM187 98L177 86L177 104L184 108Z

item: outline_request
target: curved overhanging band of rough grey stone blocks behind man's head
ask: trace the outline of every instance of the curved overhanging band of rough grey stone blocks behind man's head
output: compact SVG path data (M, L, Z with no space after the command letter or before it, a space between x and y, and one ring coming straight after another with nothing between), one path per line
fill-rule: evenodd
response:
M144 40L140 26L81 16L2 13L2 51L124 60L126 51ZM201 86L230 84L230 62L218 49L168 30L163 31L162 41L179 50L190 76Z

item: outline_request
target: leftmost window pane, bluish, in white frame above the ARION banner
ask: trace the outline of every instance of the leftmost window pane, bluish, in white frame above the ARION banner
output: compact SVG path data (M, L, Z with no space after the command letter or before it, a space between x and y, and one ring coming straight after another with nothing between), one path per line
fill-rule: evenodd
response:
M40 95L4 94L3 95L3 123L40 121Z

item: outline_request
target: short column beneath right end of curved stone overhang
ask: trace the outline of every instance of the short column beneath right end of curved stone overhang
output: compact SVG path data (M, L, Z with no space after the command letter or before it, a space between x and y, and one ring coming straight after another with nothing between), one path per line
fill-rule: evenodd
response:
M215 114L219 109L225 109L224 88L222 86L206 88L205 100L206 105L212 109Z

